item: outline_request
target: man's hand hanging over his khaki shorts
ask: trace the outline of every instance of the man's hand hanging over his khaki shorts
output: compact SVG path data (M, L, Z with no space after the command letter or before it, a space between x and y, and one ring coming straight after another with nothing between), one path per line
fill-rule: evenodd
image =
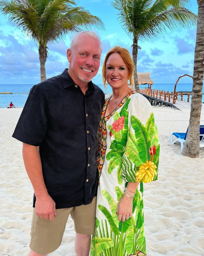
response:
M47 194L46 196L36 197L35 213L41 219L53 221L56 216L55 202Z

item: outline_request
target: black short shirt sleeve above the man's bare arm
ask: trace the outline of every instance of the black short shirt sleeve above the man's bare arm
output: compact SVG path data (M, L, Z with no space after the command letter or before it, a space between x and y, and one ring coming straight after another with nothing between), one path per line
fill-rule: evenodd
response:
M46 130L45 99L38 86L34 85L31 88L12 137L23 143L39 146Z

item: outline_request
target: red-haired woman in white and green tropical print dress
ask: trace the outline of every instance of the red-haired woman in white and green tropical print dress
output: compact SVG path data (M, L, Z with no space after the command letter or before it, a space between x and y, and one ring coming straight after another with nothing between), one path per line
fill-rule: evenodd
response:
M112 95L98 135L99 186L91 256L145 256L143 183L157 180L159 140L152 107L133 91L133 61L112 48L103 64Z

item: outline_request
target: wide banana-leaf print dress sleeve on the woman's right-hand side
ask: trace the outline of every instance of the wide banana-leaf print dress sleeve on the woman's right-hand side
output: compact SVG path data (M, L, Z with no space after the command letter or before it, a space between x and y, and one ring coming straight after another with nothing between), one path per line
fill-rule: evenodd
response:
M122 160L122 176L127 182L157 180L159 138L152 106L141 94L128 107L128 136Z

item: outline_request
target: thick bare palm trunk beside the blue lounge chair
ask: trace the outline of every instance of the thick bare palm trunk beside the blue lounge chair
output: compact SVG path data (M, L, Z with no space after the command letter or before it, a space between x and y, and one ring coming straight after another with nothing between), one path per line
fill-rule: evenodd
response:
M194 55L194 78L191 100L191 115L182 155L199 157L199 125L202 106L202 88L204 73L204 0L197 0L198 20Z

